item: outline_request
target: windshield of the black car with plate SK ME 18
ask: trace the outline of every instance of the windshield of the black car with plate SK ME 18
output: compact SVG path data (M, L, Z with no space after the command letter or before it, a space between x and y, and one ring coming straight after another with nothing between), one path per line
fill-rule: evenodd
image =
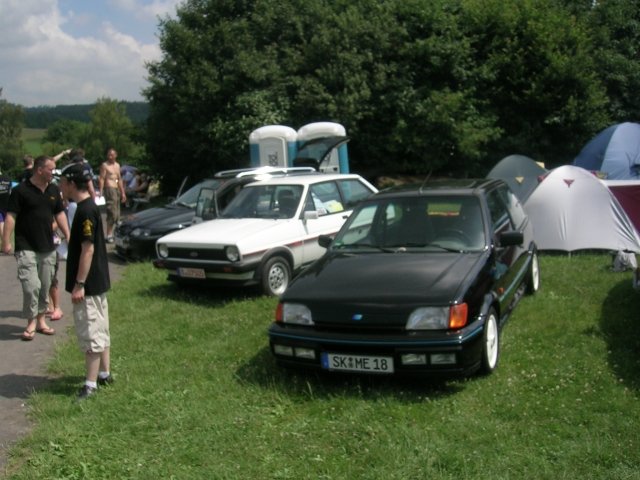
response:
M478 251L485 246L480 203L474 196L381 198L357 208L334 249Z

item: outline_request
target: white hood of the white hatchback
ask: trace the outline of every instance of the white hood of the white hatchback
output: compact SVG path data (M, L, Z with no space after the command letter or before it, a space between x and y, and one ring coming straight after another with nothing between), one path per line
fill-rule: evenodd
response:
M260 239L261 246L286 242L295 232L294 219L262 219L262 218L217 218L192 225L184 230L170 233L159 242L170 246L188 246L201 248L219 248L221 245L236 245L241 251L251 249Z

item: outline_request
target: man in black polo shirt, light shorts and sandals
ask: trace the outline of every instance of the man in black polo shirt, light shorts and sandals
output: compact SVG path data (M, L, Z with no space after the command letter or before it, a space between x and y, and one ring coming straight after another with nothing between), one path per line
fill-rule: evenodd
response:
M22 310L27 318L23 340L33 340L36 332L44 335L55 333L45 319L56 264L54 218L64 237L69 238L60 190L51 183L55 167L51 157L36 158L31 177L11 191L2 232L2 251L11 253L11 234L15 229L15 257L23 293Z

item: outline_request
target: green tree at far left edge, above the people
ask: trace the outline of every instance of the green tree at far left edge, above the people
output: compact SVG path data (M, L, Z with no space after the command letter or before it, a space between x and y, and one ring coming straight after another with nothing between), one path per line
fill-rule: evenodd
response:
M0 88L0 97L2 97L2 88ZM0 98L0 170L13 177L18 177L22 169L23 126L22 107Z

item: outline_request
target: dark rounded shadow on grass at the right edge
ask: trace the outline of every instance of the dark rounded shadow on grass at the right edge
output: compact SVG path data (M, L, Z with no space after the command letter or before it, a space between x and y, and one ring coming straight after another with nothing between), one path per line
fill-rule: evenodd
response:
M609 366L625 385L640 391L640 293L630 279L618 282L602 304L600 327L609 350Z

